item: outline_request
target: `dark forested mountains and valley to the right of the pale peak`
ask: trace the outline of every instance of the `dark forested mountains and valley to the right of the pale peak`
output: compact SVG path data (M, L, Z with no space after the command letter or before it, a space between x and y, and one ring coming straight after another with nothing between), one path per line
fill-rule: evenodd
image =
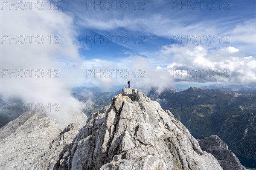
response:
M151 91L148 97L169 109L196 138L216 134L230 150L256 161L255 89L225 92L190 87L176 93Z

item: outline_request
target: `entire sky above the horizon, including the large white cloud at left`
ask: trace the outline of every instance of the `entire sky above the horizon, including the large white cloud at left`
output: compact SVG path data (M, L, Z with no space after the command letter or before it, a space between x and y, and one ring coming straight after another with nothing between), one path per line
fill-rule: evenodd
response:
M58 69L60 76L4 77L3 96L20 95L34 101L42 95L49 100L73 86L110 89L127 86L128 80L139 89L256 82L255 0L120 0L115 1L116 9L114 1L44 0L36 1L43 2L44 8L28 9L27 4L24 10L11 8L9 1L2 2L1 35L41 35L44 42L15 44L4 40L1 69L42 69L44 75L49 69ZM106 9L106 2L111 3L110 9ZM102 9L96 3L103 3ZM181 3L185 6L180 8ZM125 4L129 5L127 9ZM55 5L58 8L52 9ZM49 35L58 35L58 44L48 43ZM125 69L128 76L121 74ZM88 70L93 74L87 74ZM111 77L94 74L108 70ZM116 77L113 70L119 70Z

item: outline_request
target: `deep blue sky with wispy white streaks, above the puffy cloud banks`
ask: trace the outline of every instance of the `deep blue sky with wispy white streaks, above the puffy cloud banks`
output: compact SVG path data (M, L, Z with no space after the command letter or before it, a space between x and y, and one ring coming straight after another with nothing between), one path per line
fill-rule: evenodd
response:
M213 35L215 43L212 46L207 44L206 40L202 41L202 45L211 48L227 47L229 44L218 44L217 41L220 40L219 35L229 35L230 39L227 42L230 42L230 46L238 48L240 45L247 44L241 44L239 40L232 39L233 29L247 20L253 20L255 26L256 1L253 0L204 1L202 5L198 1L147 0L143 3L136 1L136 8L142 6L143 10L134 10L134 1L125 2L129 4L126 10L122 9L120 3L117 3L117 9L114 9L114 3L111 3L112 7L107 9L108 3L105 4L104 1L102 3L100 1L90 1L90 3L88 1L61 1L60 8L74 15L79 41L88 47L88 49L81 50L81 55L84 55L85 59L105 60L106 57L110 59L126 57L124 53L127 52L140 55L143 55L145 51L155 52L164 45L179 43L172 41L172 35L183 37ZM96 3L102 4L102 9L96 6ZM184 6L179 6L180 4ZM197 7L194 6L195 4ZM100 38L102 43L100 40L95 42L94 37L93 40L86 40L86 37L91 35L97 38L102 35L103 38ZM120 37L127 35L128 43L122 43L120 37L115 43L113 35ZM104 39L109 36L113 43L108 44L108 41ZM136 43L134 43L134 36L137 37ZM139 40L143 44L139 44ZM227 38L222 37L221 43L224 40ZM201 45L200 41L197 40L195 45ZM254 49L245 49L244 53L255 57Z

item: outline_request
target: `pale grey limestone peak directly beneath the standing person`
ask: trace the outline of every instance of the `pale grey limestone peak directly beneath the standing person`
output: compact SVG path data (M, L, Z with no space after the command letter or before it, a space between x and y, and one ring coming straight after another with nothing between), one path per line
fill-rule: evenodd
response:
M222 170L170 111L133 88L94 113L63 152L56 169Z

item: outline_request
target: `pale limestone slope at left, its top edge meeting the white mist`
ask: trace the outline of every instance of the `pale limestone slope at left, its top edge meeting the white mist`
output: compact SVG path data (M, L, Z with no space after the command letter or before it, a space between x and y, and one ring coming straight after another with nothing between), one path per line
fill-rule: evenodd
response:
M70 114L76 123L66 128L57 124L46 112L35 110L23 113L2 127L0 169L53 169L50 162L56 164L59 161L59 152L73 141L87 119L80 110L72 110Z

